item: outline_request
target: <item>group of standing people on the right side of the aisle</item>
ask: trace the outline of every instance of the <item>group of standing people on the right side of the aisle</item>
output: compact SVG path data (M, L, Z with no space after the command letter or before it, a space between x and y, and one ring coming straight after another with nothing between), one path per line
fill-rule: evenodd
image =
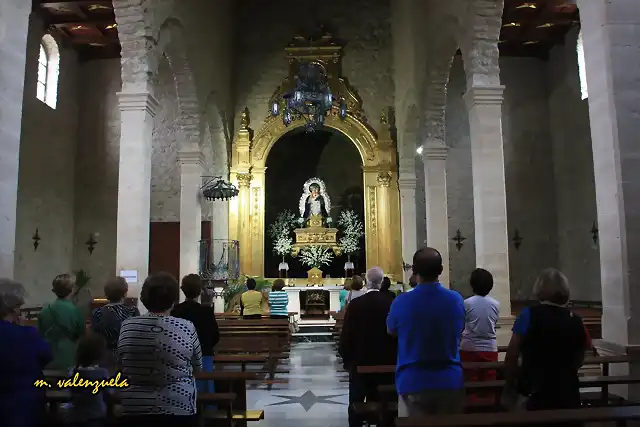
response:
M439 282L442 271L442 256L427 247L413 257L412 292L386 297L391 282L377 267L367 272L365 290L359 278L345 289L339 353L349 372L350 427L363 424L351 404L377 401L383 384L395 382L399 417L463 413L468 401L494 400L467 396L465 381L494 380L496 371L463 369L463 362L498 361L500 304L490 296L493 276L474 270L473 295L463 299ZM513 325L500 403L509 410L577 408L589 334L567 308L569 285L560 271L544 270L534 294L539 304L524 309ZM369 365L395 365L395 376L358 372Z

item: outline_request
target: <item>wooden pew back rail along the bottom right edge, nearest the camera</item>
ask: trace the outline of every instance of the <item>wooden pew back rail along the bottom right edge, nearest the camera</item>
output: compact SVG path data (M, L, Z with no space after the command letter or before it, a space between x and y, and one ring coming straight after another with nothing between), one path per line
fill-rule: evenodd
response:
M473 415L447 415L416 418L397 418L396 427L483 427L532 426L549 423L615 422L626 426L627 421L640 420L640 406L617 408L582 408L527 412L502 412Z

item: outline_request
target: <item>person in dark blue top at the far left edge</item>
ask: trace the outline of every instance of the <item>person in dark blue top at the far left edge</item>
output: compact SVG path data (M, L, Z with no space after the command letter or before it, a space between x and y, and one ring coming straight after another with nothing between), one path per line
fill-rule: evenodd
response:
M24 298L20 283L0 279L0 423L8 427L40 425L45 390L33 384L53 358L38 331L20 324Z

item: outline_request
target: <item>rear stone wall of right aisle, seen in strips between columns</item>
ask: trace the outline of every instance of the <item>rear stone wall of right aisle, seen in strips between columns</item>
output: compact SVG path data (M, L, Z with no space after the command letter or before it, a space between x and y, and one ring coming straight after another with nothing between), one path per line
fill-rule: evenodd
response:
M501 58L501 79L507 86L503 106L505 176L511 294L526 299L540 269L557 264L555 196L548 124L545 64L531 58ZM469 116L462 95L466 91L462 59L457 56L451 67L447 96L446 140L447 197L449 236L459 229L464 240L458 250L449 241L450 280L452 286L468 293L469 273L475 268L473 181ZM426 228L424 173L417 168L418 232ZM516 249L512 238L518 229L523 238ZM424 240L418 236L418 243ZM550 247L539 253L540 247Z

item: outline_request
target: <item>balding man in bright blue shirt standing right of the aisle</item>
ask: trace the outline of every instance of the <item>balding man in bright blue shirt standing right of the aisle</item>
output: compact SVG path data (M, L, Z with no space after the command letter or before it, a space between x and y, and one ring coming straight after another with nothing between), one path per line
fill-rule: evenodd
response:
M464 300L438 282L442 256L433 248L413 256L413 292L391 305L387 329L398 337L398 416L459 413L465 392L460 364Z

